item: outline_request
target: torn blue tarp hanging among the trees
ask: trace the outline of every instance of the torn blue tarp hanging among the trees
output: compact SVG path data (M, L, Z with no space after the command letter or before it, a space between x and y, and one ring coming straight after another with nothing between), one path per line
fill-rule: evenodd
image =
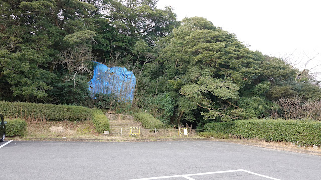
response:
M125 67L107 67L95 62L94 76L89 81L89 91L97 93L115 94L118 99L132 101L136 85L136 77Z

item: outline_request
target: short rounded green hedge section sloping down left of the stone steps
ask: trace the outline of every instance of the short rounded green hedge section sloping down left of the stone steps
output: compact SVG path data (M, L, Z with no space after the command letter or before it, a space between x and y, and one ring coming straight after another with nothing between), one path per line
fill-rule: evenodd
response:
M103 133L104 131L109 131L109 119L101 110L93 110L92 121L96 128L96 132Z

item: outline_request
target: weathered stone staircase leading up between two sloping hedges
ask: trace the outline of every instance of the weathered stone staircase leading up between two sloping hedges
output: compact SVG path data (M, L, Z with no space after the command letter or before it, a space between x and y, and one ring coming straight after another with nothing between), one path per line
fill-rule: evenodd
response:
M134 117L131 115L107 113L106 116L109 119L109 135L111 136L127 137L129 136L130 127L142 127L141 123L134 121Z

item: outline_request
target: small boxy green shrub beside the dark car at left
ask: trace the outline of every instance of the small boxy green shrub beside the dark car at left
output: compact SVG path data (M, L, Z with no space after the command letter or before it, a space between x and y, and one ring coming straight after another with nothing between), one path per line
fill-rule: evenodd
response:
M27 122L22 119L6 119L6 136L25 135L27 130Z

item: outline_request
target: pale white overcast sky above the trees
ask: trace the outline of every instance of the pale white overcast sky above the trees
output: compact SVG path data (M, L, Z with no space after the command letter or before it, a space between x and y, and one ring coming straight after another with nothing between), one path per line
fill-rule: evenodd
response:
M250 50L303 61L315 57L308 69L321 64L319 0L159 0L157 7L164 6L173 7L178 20L206 18L234 33ZM320 73L321 66L313 72Z

